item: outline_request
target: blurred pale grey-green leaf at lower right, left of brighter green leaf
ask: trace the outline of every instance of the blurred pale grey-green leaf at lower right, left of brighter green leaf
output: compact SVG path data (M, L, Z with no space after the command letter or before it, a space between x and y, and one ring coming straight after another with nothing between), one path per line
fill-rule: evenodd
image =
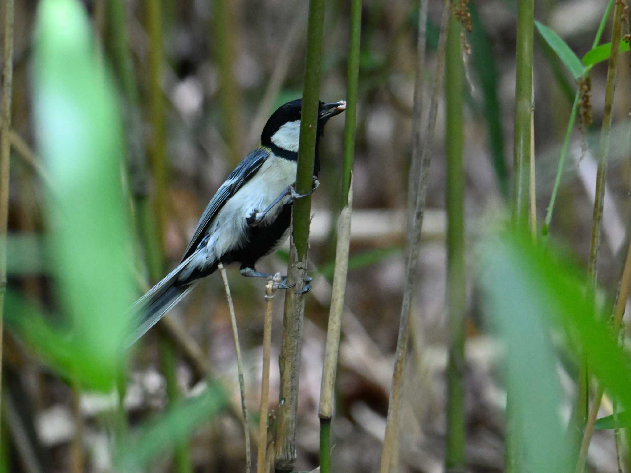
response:
M521 470L566 471L569 448L558 414L562 390L546 337L548 303L522 260L520 243L502 236L483 244L485 303L506 347L507 384L526 462Z

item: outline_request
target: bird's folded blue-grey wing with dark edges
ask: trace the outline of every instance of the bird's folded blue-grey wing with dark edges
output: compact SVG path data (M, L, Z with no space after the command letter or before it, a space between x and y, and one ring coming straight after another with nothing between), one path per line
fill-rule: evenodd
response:
M261 168L261 165L269 157L269 149L256 148L252 153L245 156L244 160L239 163L239 166L230 173L221 187L215 193L206 210L199 219L199 223L195 228L191 241L186 247L182 261L187 259L198 247L204 235L208 231L208 227L215 218L216 214L221 210L223 204L225 204L230 197L232 197L242 185L248 182L252 176Z

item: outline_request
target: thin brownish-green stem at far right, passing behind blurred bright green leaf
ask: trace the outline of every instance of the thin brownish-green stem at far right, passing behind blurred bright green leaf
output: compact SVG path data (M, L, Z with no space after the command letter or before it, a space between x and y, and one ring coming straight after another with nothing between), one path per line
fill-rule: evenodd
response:
M594 215L589 247L589 262L587 264L588 287L591 295L596 291L598 282L598 255L600 252L601 235L603 232L603 205L604 187L606 182L607 161L609 157L611 111L613 108L613 96L615 94L616 72L618 69L618 52L620 50L620 38L622 37L622 13L624 4L616 2L613 10L613 29L611 32L611 54L608 61L607 81L604 91L603 125L601 127L599 144L599 161L596 172L596 195L594 197ZM625 299L626 300L626 299ZM617 333L617 332L616 332ZM581 357L581 373L579 376L579 395L576 403L577 421L579 426L585 427L587 412L589 411L589 374L587 372L587 360ZM594 405L596 402L594 402ZM595 419L594 419L595 420Z

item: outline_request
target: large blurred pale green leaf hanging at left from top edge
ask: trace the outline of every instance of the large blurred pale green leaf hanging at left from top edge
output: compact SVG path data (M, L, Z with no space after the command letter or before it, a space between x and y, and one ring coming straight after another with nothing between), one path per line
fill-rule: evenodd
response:
M134 296L121 122L83 5L42 0L36 23L35 130L58 190L47 199L57 300L69 322L73 372L85 377L77 381L107 390Z

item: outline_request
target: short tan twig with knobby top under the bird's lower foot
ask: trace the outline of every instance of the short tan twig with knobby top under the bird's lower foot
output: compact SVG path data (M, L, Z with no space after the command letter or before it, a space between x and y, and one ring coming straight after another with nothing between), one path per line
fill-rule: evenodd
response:
M272 338L272 308L274 293L281 282L280 272L274 274L265 286L265 321L263 324L263 368L261 373L261 411L259 416L259 449L257 451L256 471L265 473L268 445L269 411L269 358Z

